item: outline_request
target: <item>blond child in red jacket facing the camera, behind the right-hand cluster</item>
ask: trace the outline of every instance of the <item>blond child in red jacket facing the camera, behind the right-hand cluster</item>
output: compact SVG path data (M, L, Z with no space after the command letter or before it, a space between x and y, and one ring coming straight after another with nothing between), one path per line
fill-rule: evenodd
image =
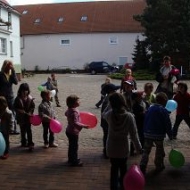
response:
M126 69L125 71L125 76L121 79L121 88L120 88L120 93L125 92L125 87L124 87L124 82L125 81L133 81L133 90L137 90L137 83L134 77L132 76L132 71L131 69Z

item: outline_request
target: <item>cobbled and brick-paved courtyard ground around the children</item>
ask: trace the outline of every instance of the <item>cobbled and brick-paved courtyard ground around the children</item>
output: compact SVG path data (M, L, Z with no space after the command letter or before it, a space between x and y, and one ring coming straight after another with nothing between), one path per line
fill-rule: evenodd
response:
M29 83L36 107L41 101L37 87L46 81L47 76L35 75L22 80ZM100 118L100 109L94 105L100 98L100 85L104 82L105 76L73 74L57 75L57 78L62 107L55 107L55 110L64 127L66 126L65 99L73 93L81 97L81 111L92 112ZM138 82L138 88L142 90L145 82ZM113 83L119 84L120 81L114 80ZM14 88L16 94L18 86ZM171 117L173 120L174 115ZM66 165L68 145L64 132L65 128L56 135L58 148L43 149L42 127L33 127L35 142L33 152L19 147L19 136L11 136L10 157L7 160L0 160L0 190L109 190L110 164L109 160L102 157L102 129L99 124L94 129L82 130L80 134L79 156L84 162L81 168L71 168ZM179 139L173 142L173 146L184 154L185 166L180 169L170 166L168 154L171 142L166 139L166 169L159 175L153 174L153 151L148 165L145 190L190 190L190 131L182 123L179 132ZM130 157L128 166L138 164L139 160L140 156Z

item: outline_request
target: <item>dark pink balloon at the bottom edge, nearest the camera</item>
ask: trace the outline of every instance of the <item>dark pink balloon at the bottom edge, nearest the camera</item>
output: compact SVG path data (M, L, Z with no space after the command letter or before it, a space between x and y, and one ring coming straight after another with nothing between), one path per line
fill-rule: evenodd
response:
M125 190L143 190L145 178L139 166L132 165L123 179Z

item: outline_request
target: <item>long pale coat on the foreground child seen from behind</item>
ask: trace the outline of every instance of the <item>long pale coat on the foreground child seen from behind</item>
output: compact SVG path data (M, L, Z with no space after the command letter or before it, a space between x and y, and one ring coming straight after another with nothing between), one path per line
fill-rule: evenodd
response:
M130 135L136 150L141 150L135 119L131 113L127 111L123 111L123 113L113 113L112 110L109 110L103 112L102 116L106 119L109 125L106 151L110 158L128 157L128 135Z

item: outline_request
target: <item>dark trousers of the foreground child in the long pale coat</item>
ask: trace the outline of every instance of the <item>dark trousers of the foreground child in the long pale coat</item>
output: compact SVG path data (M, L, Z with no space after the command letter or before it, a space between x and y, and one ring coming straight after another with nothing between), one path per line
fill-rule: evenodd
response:
M117 190L118 183L123 189L123 178L127 171L127 158L110 158L110 190Z

